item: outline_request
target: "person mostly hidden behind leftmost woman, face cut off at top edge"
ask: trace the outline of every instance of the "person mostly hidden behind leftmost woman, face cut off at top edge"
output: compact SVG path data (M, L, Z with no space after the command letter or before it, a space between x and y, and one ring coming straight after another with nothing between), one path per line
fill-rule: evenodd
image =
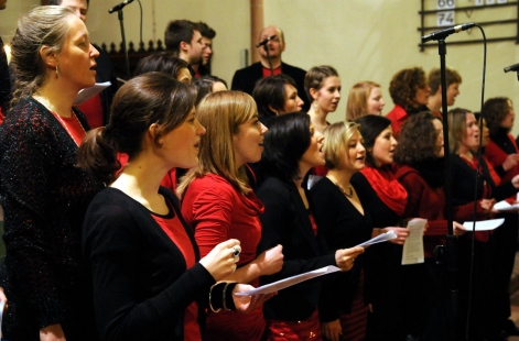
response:
M73 9L77 18L86 24L89 0L51 0L48 4L65 6ZM110 81L111 86L78 106L78 109L85 114L91 129L108 123L111 100L117 92L117 76L111 65L110 57L108 57L108 54L99 46L94 45L94 47L99 51L99 57L96 58L96 82Z

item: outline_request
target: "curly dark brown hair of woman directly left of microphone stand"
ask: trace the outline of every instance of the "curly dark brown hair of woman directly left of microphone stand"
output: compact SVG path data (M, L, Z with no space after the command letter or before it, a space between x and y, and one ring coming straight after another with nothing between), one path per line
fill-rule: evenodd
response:
M434 129L433 120L440 120L440 118L430 111L423 111L411 116L403 123L398 138L398 148L394 153L397 164L410 165L436 157L434 152L437 132Z

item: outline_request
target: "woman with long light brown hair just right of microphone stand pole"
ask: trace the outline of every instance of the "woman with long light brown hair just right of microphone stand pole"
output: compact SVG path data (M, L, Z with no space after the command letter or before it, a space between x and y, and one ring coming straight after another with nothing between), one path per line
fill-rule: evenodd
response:
M453 109L448 111L448 123L451 150L456 154L453 156L453 204L463 205L474 200L475 175L478 180L478 199L494 198L495 201L501 201L508 198L507 200L515 201L519 175L513 176L511 180L502 182L484 156L479 166L474 151L477 152L479 147L480 131L474 114L466 109ZM479 265L475 266L473 278L474 285L479 287L486 285L479 290L485 295L477 295L477 290L474 290L476 295L473 295L473 302L477 304L478 300L489 297L486 306L493 309L485 309L488 316L482 316L483 311L478 311L478 315L475 312L472 324L478 328L487 326L486 332L489 337L495 337L497 333L502 336L517 333L513 323L508 322L510 317L508 284L517 250L517 212L499 213L496 218L505 218L505 223L493 231L491 235L488 232L476 233L476 241L479 242L475 243L474 262ZM482 237L485 238L483 241L490 239L490 243L482 243ZM490 268L485 272L485 266ZM485 323L477 323L478 316ZM475 331L477 334L483 332L483 330Z

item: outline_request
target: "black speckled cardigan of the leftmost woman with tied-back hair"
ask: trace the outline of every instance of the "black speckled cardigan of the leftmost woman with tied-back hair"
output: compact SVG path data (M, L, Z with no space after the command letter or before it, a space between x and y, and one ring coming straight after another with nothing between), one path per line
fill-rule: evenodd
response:
M76 116L88 130L83 114ZM53 323L62 323L67 340L94 338L80 235L88 204L102 187L75 166L76 154L76 142L32 97L21 99L0 128L9 339L37 339Z

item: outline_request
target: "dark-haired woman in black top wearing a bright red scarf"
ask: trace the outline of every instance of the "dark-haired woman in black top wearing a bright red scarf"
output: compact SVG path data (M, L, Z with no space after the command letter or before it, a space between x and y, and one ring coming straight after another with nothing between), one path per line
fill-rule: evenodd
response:
M400 275L402 244L409 231L402 226L408 202L406 188L397 180L393 164L398 147L391 120L365 116L356 120L366 147L366 167L352 177L352 184L374 222L374 234L392 230L398 238L379 243L366 253L365 297L369 304L367 340L403 340L403 283ZM388 292L391 295L388 295Z

